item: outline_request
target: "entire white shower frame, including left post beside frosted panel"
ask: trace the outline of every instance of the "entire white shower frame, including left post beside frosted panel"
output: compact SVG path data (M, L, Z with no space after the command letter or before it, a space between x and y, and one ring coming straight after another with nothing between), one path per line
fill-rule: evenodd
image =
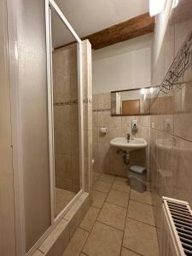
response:
M44 0L45 3L45 26L46 26L46 57L47 57L47 95L48 95L48 125L49 125L49 183L50 183L50 225L44 234L35 242L31 249L26 252L25 236L25 212L24 212L24 189L23 189L23 168L22 168L22 147L20 133L20 102L18 95L19 88L19 65L18 65L18 45L17 45L17 3L15 0L8 0L8 29L9 29L9 80L10 80L10 101L11 119L13 128L13 167L14 167L14 190L15 190L15 236L17 255L32 255L42 242L54 230L56 224L68 212L73 204L84 193L84 133L83 133L83 92L82 92L82 41L73 27L67 21L61 9L58 8L54 0ZM73 34L78 45L78 99L79 99L79 176L81 189L74 196L58 216L55 217L55 150L54 150L54 122L53 122L53 78L52 78L52 44L51 44L51 9L59 16L64 26Z

